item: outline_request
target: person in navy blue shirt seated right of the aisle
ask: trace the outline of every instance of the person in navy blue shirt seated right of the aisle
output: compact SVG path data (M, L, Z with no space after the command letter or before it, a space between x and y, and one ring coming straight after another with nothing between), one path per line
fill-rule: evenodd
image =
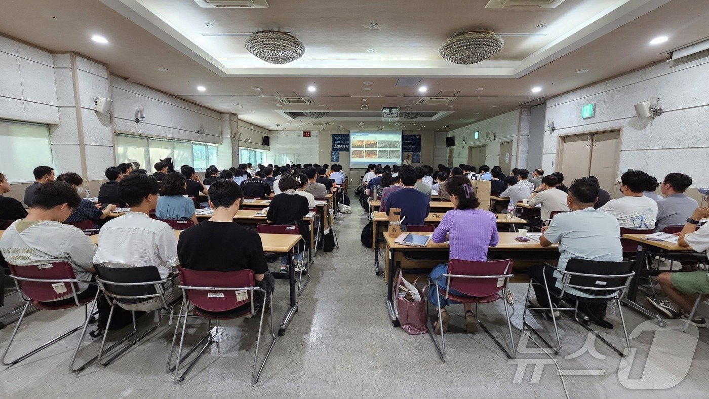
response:
M431 209L429 196L414 188L417 183L416 176L411 165L404 165L399 172L403 189L386 194L385 211L401 208L401 218L406 218L404 225L423 225L423 220Z

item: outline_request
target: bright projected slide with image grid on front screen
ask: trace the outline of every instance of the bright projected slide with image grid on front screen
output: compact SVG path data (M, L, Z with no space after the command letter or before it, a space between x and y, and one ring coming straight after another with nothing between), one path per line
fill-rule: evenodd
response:
M350 130L350 168L366 168L369 164L401 164L401 130Z

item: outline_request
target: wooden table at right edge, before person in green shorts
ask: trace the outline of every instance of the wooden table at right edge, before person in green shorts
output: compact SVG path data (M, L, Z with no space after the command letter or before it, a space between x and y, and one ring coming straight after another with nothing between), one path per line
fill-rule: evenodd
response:
M623 238L637 242L640 246L640 250L635 253L635 269L633 269L635 276L633 276L632 281L630 281L630 287L628 287L625 298L621 300L623 300L623 303L628 305L628 307L655 320L660 327L664 327L666 322L662 320L663 317L661 315L645 308L637 302L637 289L640 286L640 277L657 276L663 272L663 270L648 270L647 254L658 254L661 257L686 257L688 262L706 262L706 254L703 252L695 252L689 247L682 247L672 242L648 240L646 234L624 234Z

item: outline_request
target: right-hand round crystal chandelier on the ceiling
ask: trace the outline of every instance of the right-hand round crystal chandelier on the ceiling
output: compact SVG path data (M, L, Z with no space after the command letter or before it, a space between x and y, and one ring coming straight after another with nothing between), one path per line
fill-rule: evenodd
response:
M438 50L441 57L456 64L475 64L488 59L505 45L505 40L489 30L454 35Z

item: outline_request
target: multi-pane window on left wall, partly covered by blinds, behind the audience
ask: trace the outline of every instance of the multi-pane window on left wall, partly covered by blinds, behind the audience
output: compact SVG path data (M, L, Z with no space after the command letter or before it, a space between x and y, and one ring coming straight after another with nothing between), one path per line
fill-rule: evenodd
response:
M152 165L160 159L172 158L175 169L190 165L203 172L209 165L216 165L217 147L199 142L162 140L116 134L116 162L138 162L149 173L155 172Z

